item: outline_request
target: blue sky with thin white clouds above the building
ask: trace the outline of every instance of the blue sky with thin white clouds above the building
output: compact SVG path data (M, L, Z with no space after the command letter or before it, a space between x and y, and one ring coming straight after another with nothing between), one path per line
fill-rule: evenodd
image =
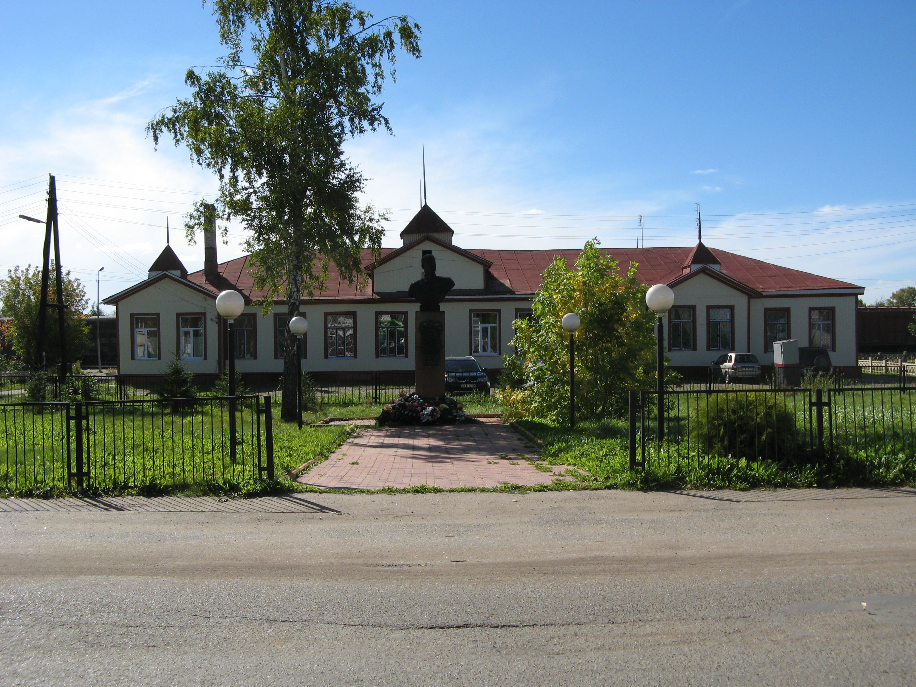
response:
M464 247L707 245L854 281L916 284L914 29L906 2L365 2L423 28L383 100L395 136L348 145L386 245L419 199ZM35 263L44 175L63 262L104 293L142 276L213 178L143 127L223 49L196 2L3 5L0 250ZM170 190L170 191L165 191ZM38 231L36 231L38 230ZM234 226L220 257L241 254ZM202 266L202 246L173 245ZM94 294L94 284L93 284ZM104 295L104 294L103 294Z

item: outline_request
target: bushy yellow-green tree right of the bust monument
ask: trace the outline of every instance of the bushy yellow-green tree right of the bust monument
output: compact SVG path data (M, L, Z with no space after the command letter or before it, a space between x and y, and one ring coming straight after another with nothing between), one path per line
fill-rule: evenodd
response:
M575 312L582 326L574 334L576 350L576 416L615 417L627 408L627 391L650 388L655 359L652 324L646 310L646 287L636 265L621 272L597 241L588 241L573 269L557 256L544 270L530 320L516 322L516 353L507 359L512 371L500 400L520 414L552 421L569 418L569 334L562 316ZM524 384L518 385L523 378Z

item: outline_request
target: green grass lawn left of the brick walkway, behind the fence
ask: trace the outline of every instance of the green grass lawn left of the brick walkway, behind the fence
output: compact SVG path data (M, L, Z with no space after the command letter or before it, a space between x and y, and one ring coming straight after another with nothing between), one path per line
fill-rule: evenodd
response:
M0 488L7 496L69 493L65 406L0 411ZM263 479L264 418L249 408L237 413L236 455L229 451L229 413L219 403L193 412L151 411L139 406L93 408L89 421L89 493L255 495L278 490ZM346 427L303 427L279 420L273 409L275 476L315 456L327 456L348 435ZM71 422L70 468L76 469ZM260 435L258 435L260 429ZM257 443L261 442L261 460Z

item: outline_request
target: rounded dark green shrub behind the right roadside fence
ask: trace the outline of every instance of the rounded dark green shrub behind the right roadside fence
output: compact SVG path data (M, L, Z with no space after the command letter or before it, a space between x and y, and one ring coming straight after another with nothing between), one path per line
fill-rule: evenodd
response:
M794 415L769 394L714 394L692 411L688 435L700 453L723 458L781 461L804 448Z

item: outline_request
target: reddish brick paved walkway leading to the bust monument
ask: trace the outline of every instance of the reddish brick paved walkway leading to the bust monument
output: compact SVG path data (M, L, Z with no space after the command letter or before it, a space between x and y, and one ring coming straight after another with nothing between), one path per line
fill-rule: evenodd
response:
M415 485L540 485L557 479L565 465L541 472L527 458L533 449L500 420L432 427L367 427L299 481L342 489ZM520 455L519 455L520 454Z

